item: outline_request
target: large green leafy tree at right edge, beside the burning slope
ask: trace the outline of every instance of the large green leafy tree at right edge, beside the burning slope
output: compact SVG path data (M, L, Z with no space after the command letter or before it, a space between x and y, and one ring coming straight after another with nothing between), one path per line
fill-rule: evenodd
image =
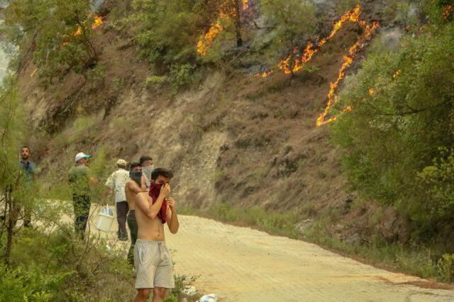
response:
M433 223L454 214L450 155L439 151L454 147L454 26L443 20L421 31L397 50L375 43L332 112L352 108L332 136L345 147L353 189Z

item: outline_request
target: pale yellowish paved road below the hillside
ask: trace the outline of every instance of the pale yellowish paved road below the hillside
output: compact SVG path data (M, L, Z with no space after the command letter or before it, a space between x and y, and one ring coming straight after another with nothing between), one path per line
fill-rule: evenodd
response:
M167 232L175 270L199 276L221 301L454 301L454 291L424 289L419 278L376 269L317 245L194 216ZM109 237L116 237L116 223ZM124 242L125 245L128 242ZM126 246L125 246L126 250Z

